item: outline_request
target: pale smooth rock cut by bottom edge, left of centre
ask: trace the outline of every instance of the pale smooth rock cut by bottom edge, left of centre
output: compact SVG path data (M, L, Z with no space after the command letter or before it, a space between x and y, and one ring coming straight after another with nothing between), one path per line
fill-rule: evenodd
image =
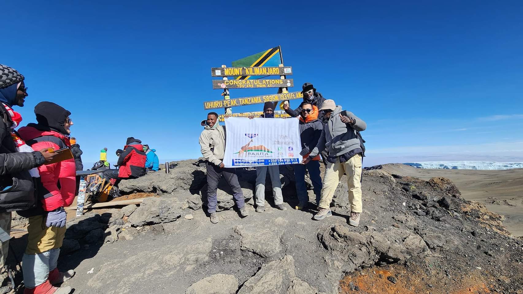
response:
M203 278L185 290L185 294L234 294L238 279L233 275L217 274Z

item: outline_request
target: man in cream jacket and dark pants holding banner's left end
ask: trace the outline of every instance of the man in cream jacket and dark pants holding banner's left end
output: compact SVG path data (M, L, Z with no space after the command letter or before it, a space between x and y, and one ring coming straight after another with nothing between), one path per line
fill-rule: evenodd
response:
M217 190L218 181L223 175L225 181L231 187L234 201L240 210L242 217L248 216L245 207L242 187L236 175L236 169L225 168L223 157L225 155L225 127L218 122L218 113L209 112L207 120L202 121L201 125L204 130L200 135L200 147L202 156L207 159L207 212L210 214L210 220L213 224L218 222L216 215L216 206L218 205Z

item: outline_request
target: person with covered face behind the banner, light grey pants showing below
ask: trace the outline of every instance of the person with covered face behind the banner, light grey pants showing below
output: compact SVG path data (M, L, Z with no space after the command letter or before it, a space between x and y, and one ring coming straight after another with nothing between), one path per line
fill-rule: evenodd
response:
M274 118L274 103L266 102L263 107L261 117ZM279 210L287 210L283 206L283 195L281 194L280 168L279 166L260 166L256 167L256 212L265 211L265 179L269 172L270 182L272 183L272 195L274 205Z

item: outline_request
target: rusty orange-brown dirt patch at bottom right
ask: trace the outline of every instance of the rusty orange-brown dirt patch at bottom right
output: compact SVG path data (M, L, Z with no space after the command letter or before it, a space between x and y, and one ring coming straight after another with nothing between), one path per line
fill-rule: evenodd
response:
M366 268L345 276L339 286L340 294L491 293L485 282L475 275L448 277L437 269L412 264Z

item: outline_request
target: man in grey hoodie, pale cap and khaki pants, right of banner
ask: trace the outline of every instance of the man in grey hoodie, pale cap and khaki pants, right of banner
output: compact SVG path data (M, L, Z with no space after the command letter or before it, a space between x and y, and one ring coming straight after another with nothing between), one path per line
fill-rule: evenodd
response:
M363 150L359 132L365 131L367 124L350 111L342 110L334 100L327 99L320 109L327 119L323 125L322 135L318 144L302 164L309 163L312 158L327 147L327 168L323 178L323 188L318 213L315 220L331 216L331 202L343 174L347 174L349 188L350 218L349 225L359 226L361 215L361 164Z

